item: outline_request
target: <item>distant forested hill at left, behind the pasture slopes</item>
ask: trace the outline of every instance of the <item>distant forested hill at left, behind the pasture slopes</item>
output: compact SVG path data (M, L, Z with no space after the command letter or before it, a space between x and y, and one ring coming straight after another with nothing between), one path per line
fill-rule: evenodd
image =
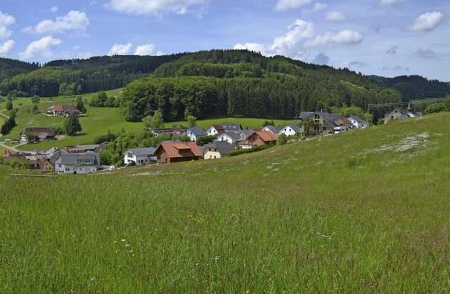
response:
M13 74L0 77L0 95L11 93L18 96L51 97L122 88L130 81L154 72L165 62L176 60L186 54L114 55L54 60L43 67L14 60L20 67ZM2 61L0 60L0 65L3 65Z

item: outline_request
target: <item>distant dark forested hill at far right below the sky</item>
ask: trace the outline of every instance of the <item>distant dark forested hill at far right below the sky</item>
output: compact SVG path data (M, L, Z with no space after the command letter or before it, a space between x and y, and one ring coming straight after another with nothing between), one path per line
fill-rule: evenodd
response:
M400 91L404 100L442 98L450 93L450 82L428 80L418 75L396 76L394 78L370 76L370 78L387 88Z

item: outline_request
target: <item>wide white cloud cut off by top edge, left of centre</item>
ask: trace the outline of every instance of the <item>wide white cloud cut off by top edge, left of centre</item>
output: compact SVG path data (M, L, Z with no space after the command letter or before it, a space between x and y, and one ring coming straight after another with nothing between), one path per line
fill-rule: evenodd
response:
M113 11L138 15L161 15L164 11L202 15L208 3L209 0L110 0L105 7ZM198 11L191 11L188 9L191 6L200 8Z

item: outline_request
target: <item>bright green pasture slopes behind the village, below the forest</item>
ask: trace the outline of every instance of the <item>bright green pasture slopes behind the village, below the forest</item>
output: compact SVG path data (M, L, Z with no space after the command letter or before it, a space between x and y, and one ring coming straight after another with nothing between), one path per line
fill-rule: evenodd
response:
M107 91L108 96L120 96L121 89L116 89L113 91ZM88 101L91 99L93 94L83 95ZM18 107L19 112L15 119L18 126L15 126L11 132L4 136L2 140L8 139L18 139L20 138L20 132L25 127L30 126L63 126L65 120L61 116L47 116L46 109L54 104L65 104L65 105L75 105L74 97L56 97L56 98L41 98L41 102L38 107L40 114L33 114L33 104L31 98L18 98L13 101L15 107ZM5 98L6 100L6 98ZM6 102L0 104L0 110L4 109ZM86 105L86 116L80 117L79 121L82 124L82 132L77 133L75 136L70 138L63 138L60 140L52 142L41 142L39 144L32 145L22 145L18 147L20 150L24 151L34 151L35 149L50 149L51 147L64 147L68 145L89 145L93 144L94 138L98 135L104 135L111 131L113 133L119 133L124 131L141 131L143 129L143 123L130 123L125 121L124 116L120 108L110 108L110 107L89 107ZM8 112L5 112L8 115ZM247 119L247 118L221 118L221 119L208 119L204 121L198 121L198 126L204 128L205 130L209 128L214 123L241 123L243 128L261 128L264 119ZM286 125L287 123L295 121L281 121L274 120L276 125ZM178 125L187 126L186 121L176 122ZM173 125L172 122L165 123L165 127L169 128Z

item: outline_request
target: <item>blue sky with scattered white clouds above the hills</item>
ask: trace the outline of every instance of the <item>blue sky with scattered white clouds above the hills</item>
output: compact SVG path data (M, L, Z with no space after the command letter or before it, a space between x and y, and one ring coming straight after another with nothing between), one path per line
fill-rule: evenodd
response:
M0 4L0 57L243 49L450 81L447 0L14 0Z

